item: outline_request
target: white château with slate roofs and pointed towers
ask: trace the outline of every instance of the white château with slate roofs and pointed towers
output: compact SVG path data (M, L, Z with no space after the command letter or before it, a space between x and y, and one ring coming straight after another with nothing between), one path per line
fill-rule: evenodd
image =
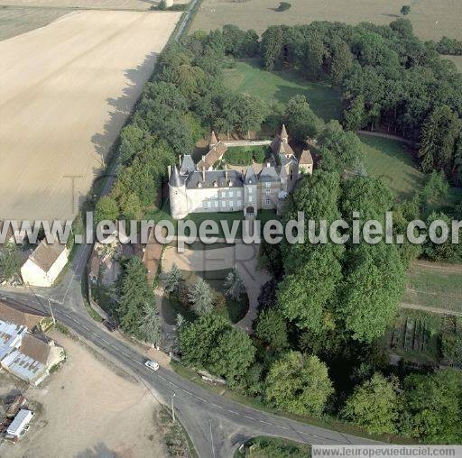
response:
M313 160L310 151L302 151L297 159L289 144L285 126L271 142L271 151L263 168L255 173L246 170L213 169L223 158L229 145L219 142L212 133L208 154L196 165L190 155L169 170L171 216L183 219L189 213L244 212L256 216L259 209L279 209L301 173L311 174Z

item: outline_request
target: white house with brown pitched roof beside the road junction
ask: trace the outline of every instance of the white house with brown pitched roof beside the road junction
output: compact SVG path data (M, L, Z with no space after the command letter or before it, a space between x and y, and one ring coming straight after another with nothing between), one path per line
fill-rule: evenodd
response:
M51 287L68 263L68 258L69 250L65 244L47 243L46 239L43 239L23 263L23 282L31 286Z

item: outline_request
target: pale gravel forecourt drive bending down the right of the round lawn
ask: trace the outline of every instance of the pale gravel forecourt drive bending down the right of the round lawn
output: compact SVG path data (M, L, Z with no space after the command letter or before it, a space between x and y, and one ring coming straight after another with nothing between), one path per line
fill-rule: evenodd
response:
M180 270L222 270L236 267L243 279L249 298L249 310L237 326L250 332L256 317L258 296L262 285L271 279L270 274L258 269L259 245L236 241L236 245L217 250L189 250L180 253L175 247L165 252L162 261L164 271L171 270L176 264Z

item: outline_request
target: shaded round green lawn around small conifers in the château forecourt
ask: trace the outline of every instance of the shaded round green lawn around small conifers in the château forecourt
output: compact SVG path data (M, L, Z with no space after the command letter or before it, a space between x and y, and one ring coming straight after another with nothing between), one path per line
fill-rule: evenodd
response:
M228 272L229 269L204 270L197 272L181 270L182 277L187 285L194 285L200 277L201 279L205 279L211 289L213 289L214 293L220 296L223 296L223 282L225 281ZM226 307L218 307L217 313L228 318L231 323L237 323L244 318L248 307L249 299L245 294L245 298L239 302L226 298ZM168 295L164 295L162 298L162 316L165 321L170 325L175 325L177 321L176 318L179 313L188 321L195 318L194 312L192 312L189 307L185 307L176 298L169 298Z

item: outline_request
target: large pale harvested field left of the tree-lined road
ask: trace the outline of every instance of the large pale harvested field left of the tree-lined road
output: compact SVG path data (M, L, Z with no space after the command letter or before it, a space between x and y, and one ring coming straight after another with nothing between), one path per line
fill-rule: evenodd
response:
M0 219L76 215L179 19L85 11L0 41Z

